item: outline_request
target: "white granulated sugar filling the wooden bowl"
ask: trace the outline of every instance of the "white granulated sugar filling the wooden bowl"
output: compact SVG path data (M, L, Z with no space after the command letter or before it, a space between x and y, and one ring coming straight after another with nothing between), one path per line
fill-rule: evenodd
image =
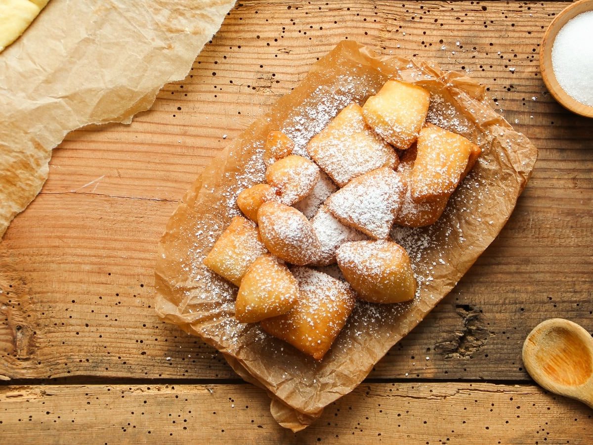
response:
M570 97L593 106L593 11L577 15L560 29L552 47L552 69Z

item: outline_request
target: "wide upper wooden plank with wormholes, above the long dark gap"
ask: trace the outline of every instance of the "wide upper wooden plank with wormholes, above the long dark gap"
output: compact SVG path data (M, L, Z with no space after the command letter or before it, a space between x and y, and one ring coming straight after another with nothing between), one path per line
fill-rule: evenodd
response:
M68 135L0 244L0 376L234 377L155 316L158 239L211 157L345 37L467 70L541 148L498 239L371 376L527 379L521 344L535 324L560 316L593 330L593 122L554 103L537 68L543 28L565 4L402 5L237 5L149 112Z

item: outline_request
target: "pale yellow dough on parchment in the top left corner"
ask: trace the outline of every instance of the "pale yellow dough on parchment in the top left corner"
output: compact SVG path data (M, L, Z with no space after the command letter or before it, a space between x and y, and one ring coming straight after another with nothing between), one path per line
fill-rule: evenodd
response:
M0 0L0 52L18 39L49 0Z

